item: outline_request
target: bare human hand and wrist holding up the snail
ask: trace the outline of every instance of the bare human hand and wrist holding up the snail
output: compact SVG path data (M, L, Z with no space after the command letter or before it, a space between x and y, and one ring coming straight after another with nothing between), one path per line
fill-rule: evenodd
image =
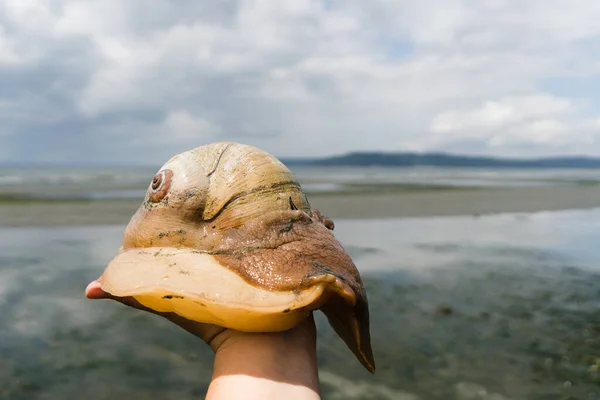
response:
M312 315L285 332L247 333L200 324L174 313L158 313L133 298L116 298L94 281L90 299L112 299L167 318L205 341L214 351L214 366L206 399L320 398L316 328Z

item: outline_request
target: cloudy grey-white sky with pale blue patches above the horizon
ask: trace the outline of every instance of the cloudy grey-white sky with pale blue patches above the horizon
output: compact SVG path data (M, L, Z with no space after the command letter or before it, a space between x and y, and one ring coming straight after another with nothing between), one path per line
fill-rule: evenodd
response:
M0 0L0 162L600 156L598 0Z

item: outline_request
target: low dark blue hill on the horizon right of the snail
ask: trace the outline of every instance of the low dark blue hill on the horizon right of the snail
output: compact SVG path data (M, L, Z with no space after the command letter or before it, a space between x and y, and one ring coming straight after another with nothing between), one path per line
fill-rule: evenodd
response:
M600 168L600 158L548 157L535 159L462 156L444 153L356 152L325 158L282 160L287 165L469 167L469 168Z

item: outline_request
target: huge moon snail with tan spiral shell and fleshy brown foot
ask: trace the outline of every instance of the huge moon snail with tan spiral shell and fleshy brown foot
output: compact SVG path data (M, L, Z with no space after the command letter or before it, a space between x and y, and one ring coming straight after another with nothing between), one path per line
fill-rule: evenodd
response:
M276 332L313 310L371 372L361 277L291 171L255 147L214 143L154 177L98 279L114 297L246 332Z

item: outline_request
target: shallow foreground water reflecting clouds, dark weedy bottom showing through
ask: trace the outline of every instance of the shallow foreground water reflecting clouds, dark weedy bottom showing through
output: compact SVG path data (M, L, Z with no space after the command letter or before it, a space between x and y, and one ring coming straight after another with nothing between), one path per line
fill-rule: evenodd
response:
M83 297L123 227L0 230L0 398L198 399L209 349ZM378 370L319 314L326 399L600 399L600 210L336 221Z

